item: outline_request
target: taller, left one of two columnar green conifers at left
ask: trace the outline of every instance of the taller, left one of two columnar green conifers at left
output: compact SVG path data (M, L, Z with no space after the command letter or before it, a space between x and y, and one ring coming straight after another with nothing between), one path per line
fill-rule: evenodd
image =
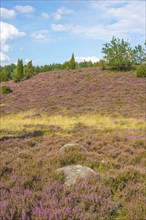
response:
M13 73L13 81L19 82L23 79L23 61L18 60L16 70Z

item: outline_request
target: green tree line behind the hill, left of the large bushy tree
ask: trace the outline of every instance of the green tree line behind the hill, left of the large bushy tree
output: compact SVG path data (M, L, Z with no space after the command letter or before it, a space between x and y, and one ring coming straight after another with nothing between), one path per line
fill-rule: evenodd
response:
M98 63L92 63L91 61L76 62L74 54L72 54L69 61L60 63L53 63L50 65L34 66L32 61L29 61L26 65L23 64L22 59L18 59L17 65L10 64L4 67L0 66L0 81L13 80L19 82L21 80L29 79L33 75L43 72L49 72L53 70L70 70L84 67L95 67Z

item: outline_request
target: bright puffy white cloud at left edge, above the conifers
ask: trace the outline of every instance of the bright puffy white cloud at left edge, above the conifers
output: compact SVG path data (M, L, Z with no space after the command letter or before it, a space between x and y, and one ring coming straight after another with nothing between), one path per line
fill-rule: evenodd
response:
M16 38L22 37L25 35L24 32L19 31L15 26L0 22L0 34L1 34L1 44L0 44L0 50L1 50L1 62L9 61L9 57L5 54L8 52L11 47L9 46L8 42L10 40L14 40Z

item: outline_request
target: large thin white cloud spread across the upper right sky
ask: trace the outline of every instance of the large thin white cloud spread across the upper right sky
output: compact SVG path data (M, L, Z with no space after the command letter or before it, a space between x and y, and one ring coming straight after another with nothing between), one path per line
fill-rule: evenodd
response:
M131 34L144 38L144 2L129 1L125 3L125 1L98 1L93 3L96 7L100 7L101 3L102 6L104 6L99 14L99 17L102 18L104 15L102 22L100 20L99 23L97 21L96 24L92 25L86 23L84 25L52 24L52 31L67 32L68 34L95 40L110 40L113 36L127 40ZM95 11L96 7L94 7Z

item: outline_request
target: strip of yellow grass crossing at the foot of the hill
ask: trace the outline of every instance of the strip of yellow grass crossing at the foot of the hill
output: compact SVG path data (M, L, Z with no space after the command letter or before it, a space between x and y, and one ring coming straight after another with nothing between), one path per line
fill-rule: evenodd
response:
M76 117L53 115L33 116L35 112L27 111L18 114L9 114L1 117L0 129L5 131L23 131L33 130L38 126L60 126L64 130L71 130L76 124L82 123L88 127L96 127L98 129L144 129L146 123L142 119L124 118L118 116L100 115L100 114L85 114ZM39 127L38 127L39 128Z

